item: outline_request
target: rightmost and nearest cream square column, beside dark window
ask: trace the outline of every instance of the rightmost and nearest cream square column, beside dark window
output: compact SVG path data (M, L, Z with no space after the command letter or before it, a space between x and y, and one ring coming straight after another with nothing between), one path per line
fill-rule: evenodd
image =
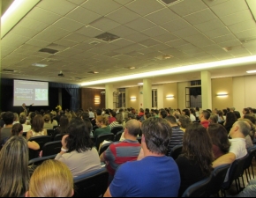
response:
M201 71L202 109L212 109L212 81L209 71Z

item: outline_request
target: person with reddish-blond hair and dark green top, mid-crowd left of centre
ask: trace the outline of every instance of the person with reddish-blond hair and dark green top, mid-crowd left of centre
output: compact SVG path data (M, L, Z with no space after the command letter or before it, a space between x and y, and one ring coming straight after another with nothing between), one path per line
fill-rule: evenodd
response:
M96 125L98 128L94 130L94 139L96 140L99 135L111 134L111 128L108 125L108 118L104 115L96 117Z

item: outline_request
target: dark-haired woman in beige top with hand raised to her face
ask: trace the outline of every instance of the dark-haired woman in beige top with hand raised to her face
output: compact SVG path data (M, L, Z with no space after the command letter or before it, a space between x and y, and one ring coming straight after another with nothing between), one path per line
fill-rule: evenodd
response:
M67 131L69 135L63 136L63 147L55 159L67 165L73 177L101 169L99 154L86 123L80 118L73 119Z

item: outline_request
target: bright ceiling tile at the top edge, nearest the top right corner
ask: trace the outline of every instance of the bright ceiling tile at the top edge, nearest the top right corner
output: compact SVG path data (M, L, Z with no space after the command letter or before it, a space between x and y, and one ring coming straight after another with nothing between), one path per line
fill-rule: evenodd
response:
M229 9L227 9L229 8ZM211 7L212 11L215 12L215 14L218 17L223 17L227 16L230 14L233 14L237 11L244 11L248 9L247 4L245 1L240 1L240 0L232 0L232 1L227 1L222 4L217 4Z

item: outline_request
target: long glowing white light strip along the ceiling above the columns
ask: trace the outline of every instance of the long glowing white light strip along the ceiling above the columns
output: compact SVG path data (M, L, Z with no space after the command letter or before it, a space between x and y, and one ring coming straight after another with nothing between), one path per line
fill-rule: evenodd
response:
M88 86L93 84L106 84L106 83L113 83L117 81L131 80L131 79L140 78L140 77L155 77L155 76L175 74L175 73L181 73L181 72L187 72L187 71L193 71L193 70L207 70L211 68L236 65L240 63L246 63L246 62L256 62L256 55L228 59L228 60L223 60L219 62L206 62L206 63L200 63L200 64L194 64L194 65L186 65L183 67L170 68L167 70L154 70L154 71L149 71L145 73L132 74L132 75L122 76L122 77L112 77L112 78L107 78L102 80L85 82L85 83L82 83L81 85Z

